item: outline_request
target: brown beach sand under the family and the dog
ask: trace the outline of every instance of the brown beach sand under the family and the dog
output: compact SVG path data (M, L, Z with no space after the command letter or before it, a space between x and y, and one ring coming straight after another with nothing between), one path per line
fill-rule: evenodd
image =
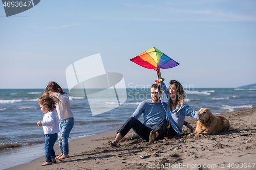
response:
M40 166L45 162L45 157L41 157L9 169L168 169L175 166L173 169L256 169L256 108L218 115L227 118L234 130L187 137L190 130L183 127L181 136L167 141L150 144L136 139L118 143L116 147L108 145L116 131L104 132L73 139L69 143L70 158ZM186 120L196 128L196 119ZM248 139L251 142L247 142ZM182 143L177 143L180 141ZM55 152L58 155L59 149Z

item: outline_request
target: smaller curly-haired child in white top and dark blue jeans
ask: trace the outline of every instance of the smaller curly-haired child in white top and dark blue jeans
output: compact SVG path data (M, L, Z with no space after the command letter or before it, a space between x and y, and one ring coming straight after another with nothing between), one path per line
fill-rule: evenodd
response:
M42 95L39 99L39 105L41 111L44 113L42 121L37 122L37 126L44 130L45 136L45 152L46 152L46 162L41 164L41 166L50 165L56 163L56 155L53 149L53 145L58 137L58 120L56 117L55 102L48 95Z

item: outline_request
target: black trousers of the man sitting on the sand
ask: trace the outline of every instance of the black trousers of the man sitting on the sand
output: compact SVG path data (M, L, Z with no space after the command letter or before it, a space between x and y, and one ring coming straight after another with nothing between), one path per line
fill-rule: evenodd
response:
M155 132L159 132L159 136L157 139L164 138L166 132L167 120L166 118L161 118L158 120L157 125L144 125L135 117L130 117L124 125L117 130L117 133L121 133L122 137L124 137L130 129L133 128L134 132L136 132L143 140L150 139L150 132L154 130Z

